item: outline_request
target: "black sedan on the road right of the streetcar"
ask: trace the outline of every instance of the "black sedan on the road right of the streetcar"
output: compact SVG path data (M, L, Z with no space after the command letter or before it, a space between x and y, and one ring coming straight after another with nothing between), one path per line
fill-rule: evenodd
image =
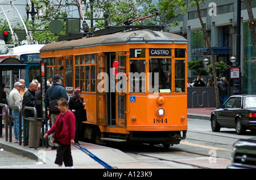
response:
M221 127L236 128L237 134L256 132L256 95L230 96L222 108L210 113L210 121L214 132Z

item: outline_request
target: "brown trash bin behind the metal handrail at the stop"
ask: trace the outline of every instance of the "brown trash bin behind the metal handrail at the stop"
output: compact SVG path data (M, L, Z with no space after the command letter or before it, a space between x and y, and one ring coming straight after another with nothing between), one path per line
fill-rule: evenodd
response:
M38 119L37 123L38 123L38 126L37 126L37 128L38 128L37 139L38 139L38 147L39 147L42 119ZM32 121L30 121L30 131L29 131L29 135L28 135L28 146L30 148L34 148L35 147L35 122L34 122L34 118L33 118Z

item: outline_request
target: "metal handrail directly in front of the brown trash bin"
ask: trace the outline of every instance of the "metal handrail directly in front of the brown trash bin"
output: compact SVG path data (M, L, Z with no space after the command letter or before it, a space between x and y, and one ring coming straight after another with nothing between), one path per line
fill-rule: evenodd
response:
M35 140L34 140L34 148L38 149L38 112L36 111L36 108L34 107L24 107L23 108L23 115L25 115L25 110L33 110L34 112L34 120L30 117L26 118L25 116L23 117L23 136L26 137L26 121L34 121L34 136L35 136ZM24 146L26 146L26 140L24 140L23 143Z

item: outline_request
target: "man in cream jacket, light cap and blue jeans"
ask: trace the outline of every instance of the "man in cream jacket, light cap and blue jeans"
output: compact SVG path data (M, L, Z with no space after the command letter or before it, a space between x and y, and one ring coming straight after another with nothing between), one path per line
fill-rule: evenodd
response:
M14 88L11 90L9 95L10 105L14 106L20 106L22 108L22 95L20 95L19 91L22 89L22 83L16 82L14 83ZM15 117L19 117L19 111L16 109L12 110L12 115ZM15 136L15 143L19 142L19 118L13 118L14 125L13 125L13 131ZM23 128L23 127L22 127Z

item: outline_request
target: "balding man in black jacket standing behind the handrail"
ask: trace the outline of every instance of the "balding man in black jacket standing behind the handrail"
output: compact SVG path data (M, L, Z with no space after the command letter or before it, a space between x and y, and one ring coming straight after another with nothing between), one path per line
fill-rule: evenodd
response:
M30 87L23 95L23 101L22 101L22 109L24 109L25 106L28 107L34 107L35 106L35 91L38 88L38 84L32 82L30 83ZM25 114L23 114L24 117L34 117L34 114L32 114L31 110L26 110ZM29 135L29 128L30 128L30 122L26 121L26 143L28 144L28 135Z

